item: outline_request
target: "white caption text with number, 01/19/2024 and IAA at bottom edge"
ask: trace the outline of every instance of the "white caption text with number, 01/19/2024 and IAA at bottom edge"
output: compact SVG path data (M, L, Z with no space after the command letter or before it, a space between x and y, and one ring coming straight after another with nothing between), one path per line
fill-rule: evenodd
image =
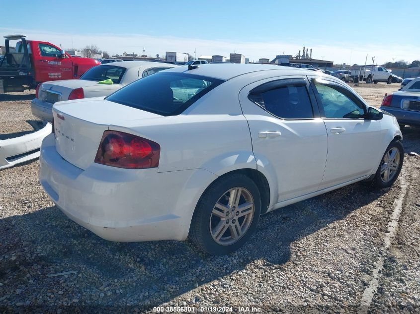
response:
M234 312L233 307L225 306L225 307L190 307L190 306L182 306L182 307L154 307L153 312L155 313L232 313ZM244 306L235 308L235 312L237 313L260 313L261 309L253 306Z

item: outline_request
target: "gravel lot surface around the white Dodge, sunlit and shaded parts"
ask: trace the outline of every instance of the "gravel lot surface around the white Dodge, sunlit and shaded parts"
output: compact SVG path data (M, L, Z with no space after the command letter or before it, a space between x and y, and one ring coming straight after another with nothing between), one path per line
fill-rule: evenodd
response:
M368 102L380 104L397 85L369 87L378 96ZM0 133L35 120L33 95L21 94L0 95L0 122L13 121L0 123ZM420 154L420 130L407 127L404 136L406 152ZM264 215L249 243L228 256L206 255L189 241L102 240L54 206L38 183L38 166L0 171L0 312L228 306L245 313L248 306L260 313L356 313L383 258L368 312L420 313L420 156L406 154L392 188L354 184ZM400 225L384 249L401 195Z

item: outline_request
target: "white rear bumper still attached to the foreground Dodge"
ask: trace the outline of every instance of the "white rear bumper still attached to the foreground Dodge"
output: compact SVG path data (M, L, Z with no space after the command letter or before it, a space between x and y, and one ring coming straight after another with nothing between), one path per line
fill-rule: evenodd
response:
M202 169L159 173L96 163L82 170L57 153L54 134L40 153L39 181L49 197L70 219L110 241L184 240L202 193L188 188L197 174L204 181L216 177Z

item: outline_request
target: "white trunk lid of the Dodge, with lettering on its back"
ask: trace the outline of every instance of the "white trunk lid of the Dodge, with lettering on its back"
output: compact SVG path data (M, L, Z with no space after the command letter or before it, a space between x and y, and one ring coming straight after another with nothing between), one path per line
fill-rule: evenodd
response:
M101 98L60 102L53 106L57 152L65 160L86 169L95 159L103 132L110 125L162 116Z

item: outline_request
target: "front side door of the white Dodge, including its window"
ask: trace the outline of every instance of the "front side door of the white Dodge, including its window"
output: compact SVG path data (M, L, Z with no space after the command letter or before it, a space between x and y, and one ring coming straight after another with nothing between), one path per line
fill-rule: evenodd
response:
M328 157L320 189L370 175L379 165L386 130L381 121L366 120L366 105L335 81L311 80L328 134Z

